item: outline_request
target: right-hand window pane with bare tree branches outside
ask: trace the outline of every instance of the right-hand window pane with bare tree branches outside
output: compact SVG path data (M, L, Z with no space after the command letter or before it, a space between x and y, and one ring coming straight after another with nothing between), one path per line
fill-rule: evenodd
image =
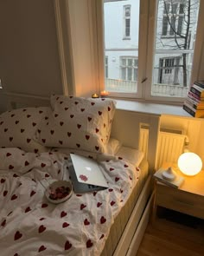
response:
M169 11L165 3L170 3ZM200 1L180 3L158 1L151 95L185 97L188 93Z

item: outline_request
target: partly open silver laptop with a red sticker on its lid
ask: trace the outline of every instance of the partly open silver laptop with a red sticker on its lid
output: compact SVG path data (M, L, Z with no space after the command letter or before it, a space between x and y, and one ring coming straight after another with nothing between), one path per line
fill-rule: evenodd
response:
M108 187L99 164L90 158L70 154L69 172L75 193L98 191Z

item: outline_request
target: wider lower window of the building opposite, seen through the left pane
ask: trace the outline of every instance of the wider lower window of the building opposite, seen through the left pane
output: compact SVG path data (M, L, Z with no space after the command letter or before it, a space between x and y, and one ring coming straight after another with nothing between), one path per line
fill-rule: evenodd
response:
M137 58L134 56L120 57L121 79L137 81Z

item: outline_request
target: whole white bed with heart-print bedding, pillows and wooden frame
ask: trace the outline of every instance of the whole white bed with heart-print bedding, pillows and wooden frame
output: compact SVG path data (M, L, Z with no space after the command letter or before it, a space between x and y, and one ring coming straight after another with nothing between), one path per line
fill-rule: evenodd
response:
M86 130L86 134L80 134L84 138L80 143L74 136L74 140L69 141L70 149L64 140L65 135L61 135L61 139L58 135L55 139L52 137L54 133L62 133L65 120L59 119L56 127L52 118L59 115L62 108L67 116L67 111L78 105L83 115L80 115L74 129L79 130L80 125L83 126L81 120L85 110L80 99L71 99L72 105L65 106L66 98L54 95L50 100L51 108L19 108L3 114L9 115L10 122L18 127L19 133L19 136L8 135L6 141L5 137L12 128L5 127L5 117L0 116L0 129L4 133L1 141L6 145L2 144L0 154L1 255L28 255L28 252L29 255L134 255L137 252L150 213L150 172L154 168L159 118L113 109L111 101L101 101L103 108L104 102L108 102L105 105L108 116L102 123L104 130L97 138L91 137L93 130L89 134ZM98 115L101 115L102 107L97 108ZM69 116L73 121L71 112ZM92 111L86 119L91 120L91 114ZM25 120L22 120L22 115ZM63 117L64 114L61 115ZM112 123L112 129L105 121ZM26 126L29 122L28 132L19 126L20 122ZM141 124L149 125L150 129L148 159L133 149L138 147ZM99 135L98 129L102 126L97 125L94 133ZM16 133L16 127L13 127L13 133ZM78 130L77 136L80 137ZM66 130L67 136L73 133L73 129ZM82 137L79 140L82 141ZM63 148L61 143L65 143ZM109 145L109 148L104 145ZM73 194L67 203L54 206L48 203L44 191L50 181L69 179L66 163L70 152L97 159L109 188Z

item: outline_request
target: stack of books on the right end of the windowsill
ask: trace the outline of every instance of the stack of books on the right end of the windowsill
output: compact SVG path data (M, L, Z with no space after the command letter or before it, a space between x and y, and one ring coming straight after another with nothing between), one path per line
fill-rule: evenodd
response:
M182 108L194 117L204 117L204 81L194 82Z

